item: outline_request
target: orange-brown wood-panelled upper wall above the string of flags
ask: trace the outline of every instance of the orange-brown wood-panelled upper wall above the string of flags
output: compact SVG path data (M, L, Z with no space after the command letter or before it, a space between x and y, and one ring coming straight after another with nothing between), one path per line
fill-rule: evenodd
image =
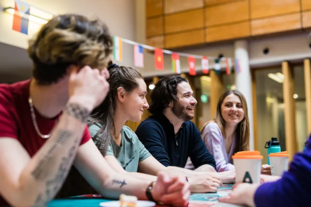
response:
M157 48L311 28L311 0L146 0L146 13Z

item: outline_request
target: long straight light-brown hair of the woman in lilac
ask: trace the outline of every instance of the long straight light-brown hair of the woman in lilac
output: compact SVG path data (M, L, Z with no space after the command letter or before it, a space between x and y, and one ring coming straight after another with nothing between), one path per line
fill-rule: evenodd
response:
M244 118L242 121L238 124L235 135L237 138L236 146L234 149L234 153L240 152L240 151L246 151L249 149L249 120L248 120L248 111L247 111L247 103L245 100L245 97L242 95L242 93L238 90L229 90L226 91L222 96L220 96L218 103L217 103L217 110L216 110L216 117L215 119L207 122L204 124L204 126L201 128L200 132L203 133L204 128L211 122L216 122L218 127L220 128L223 136L225 137L225 119L222 116L222 104L224 102L224 99L226 96L229 96L231 94L234 94L238 96L242 103L242 109L244 110Z

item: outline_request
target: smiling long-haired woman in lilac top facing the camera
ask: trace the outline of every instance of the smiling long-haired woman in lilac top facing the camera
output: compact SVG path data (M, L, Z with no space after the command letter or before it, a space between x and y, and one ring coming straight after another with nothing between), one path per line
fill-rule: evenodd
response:
M202 127L201 136L214 156L217 172L235 170L232 155L248 150L249 143L247 104L241 92L230 90L220 96L216 117Z

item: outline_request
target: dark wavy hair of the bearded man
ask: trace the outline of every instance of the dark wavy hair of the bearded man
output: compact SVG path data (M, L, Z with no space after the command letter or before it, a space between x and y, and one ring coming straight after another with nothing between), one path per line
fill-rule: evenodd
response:
M151 104L148 111L151 114L163 113L170 103L178 100L177 85L181 82L189 82L182 76L168 76L159 80L151 93Z

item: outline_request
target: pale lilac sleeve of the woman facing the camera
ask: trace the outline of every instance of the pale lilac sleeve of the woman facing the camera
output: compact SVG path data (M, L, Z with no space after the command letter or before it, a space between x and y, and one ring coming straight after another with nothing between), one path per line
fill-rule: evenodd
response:
M231 163L226 163L223 148L222 148L222 133L216 123L209 123L203 131L203 141L207 149L213 155L216 162L217 172L224 172L228 170L235 170Z

